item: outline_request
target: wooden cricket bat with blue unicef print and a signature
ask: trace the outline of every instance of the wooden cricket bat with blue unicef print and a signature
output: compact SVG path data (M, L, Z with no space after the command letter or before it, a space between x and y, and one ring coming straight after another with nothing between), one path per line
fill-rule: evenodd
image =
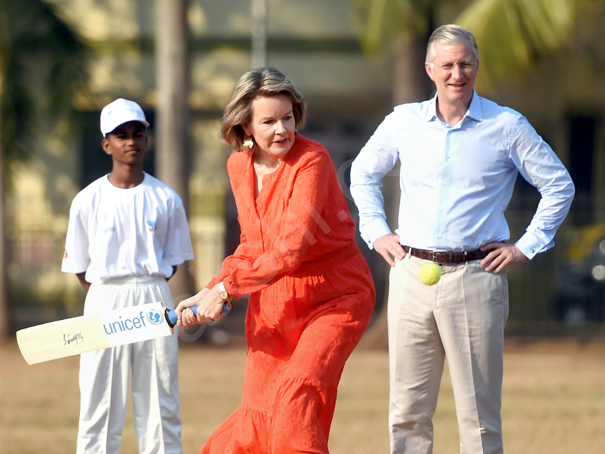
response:
M191 308L197 314L197 306ZM223 314L229 312L223 304ZM17 331L27 364L169 336L177 314L161 302L52 321Z

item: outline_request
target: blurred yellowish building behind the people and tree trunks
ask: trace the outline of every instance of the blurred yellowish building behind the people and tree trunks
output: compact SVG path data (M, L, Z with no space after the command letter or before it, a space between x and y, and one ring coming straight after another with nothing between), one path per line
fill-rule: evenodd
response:
M8 11L11 8L7 5L19 2L22 0L2 0L0 8ZM232 87L252 65L252 2L189 0L186 6L190 84L186 179L195 252L188 272L197 291L214 276L225 255L233 251L238 242L237 213L225 167L229 150L218 141L217 132ZM266 4L266 65L287 74L307 98L309 121L302 134L327 146L342 189L350 200L348 167L351 160L393 105L406 96L401 94L407 84L407 79L402 77L405 64L402 72L399 61L401 49L398 56L393 46L385 45L384 41L368 45L367 32L373 26L371 11L368 13L371 1L265 0L263 3ZM425 3L431 4L431 9L426 30L421 28L419 32L422 39L427 30L456 21L465 8L468 10L469 5L473 5L470 1ZM577 188L572 211L555 238L557 246L531 262L509 268L509 329L518 332L529 326L543 326L536 322L603 321L605 30L602 24L605 7L603 1L597 0L577 3L578 11L580 3L584 9L574 16L573 24L556 50L531 49L525 67L511 66L502 72L505 76L496 74L497 77L491 79L478 79L477 88L482 96L528 117L571 171ZM104 105L117 97L136 100L142 105L152 125L146 169L157 174L155 2L47 0L46 4L84 45L80 63L85 77L71 97L71 112L57 114L56 118L36 117L24 145L28 150L27 159L11 160L10 165L4 165L5 175L9 177L5 179L2 266L12 331L82 314L83 291L74 275L60 272L60 262L71 200L80 189L111 169L110 157L100 148L99 114ZM2 36L6 36L7 27L19 24L10 14L5 13L2 18L0 29L4 28ZM34 33L44 28L46 22L34 19L30 24ZM485 33L485 30L468 28L476 35ZM526 33L532 31L526 30ZM387 41L393 42L398 42L397 36L404 36L402 42L413 41L405 34L385 35ZM490 58L497 61L499 56L494 51L497 48L497 45L482 47L480 42L482 65L484 59L487 68L490 68ZM7 61L5 49L2 56ZM418 61L421 72L424 71L422 61L424 56ZM24 65L28 90L41 91L41 77L48 73L50 62L36 54ZM4 71L6 74L7 68ZM428 87L427 81L428 77L422 82L424 87ZM419 98L410 100L426 99L431 88L424 90L427 93L417 90L414 93ZM38 97L47 98L44 94ZM519 177L506 213L511 240L522 235L538 200L537 191ZM352 200L349 208L356 218ZM381 320L387 266L378 254L368 251L362 242L359 245L373 269L377 288L376 320ZM599 251L604 257L602 260ZM602 275L598 266L603 267ZM231 319L224 323L240 326L224 329L243 330L240 317ZM559 325L549 326L558 329Z

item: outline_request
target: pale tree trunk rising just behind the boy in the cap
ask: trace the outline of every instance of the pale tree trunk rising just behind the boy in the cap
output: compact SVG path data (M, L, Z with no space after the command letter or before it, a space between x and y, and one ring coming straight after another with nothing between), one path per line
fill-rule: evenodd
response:
M158 0L156 41L157 175L189 206L189 74L185 0ZM178 267L169 281L175 303L195 292L189 266Z

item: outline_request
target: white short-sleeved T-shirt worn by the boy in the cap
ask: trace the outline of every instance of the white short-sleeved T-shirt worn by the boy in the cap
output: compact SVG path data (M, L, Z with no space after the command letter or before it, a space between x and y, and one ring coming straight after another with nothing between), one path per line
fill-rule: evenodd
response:
M123 276L170 277L194 258L183 202L174 189L145 173L130 189L105 175L71 203L61 271L86 272L90 283Z

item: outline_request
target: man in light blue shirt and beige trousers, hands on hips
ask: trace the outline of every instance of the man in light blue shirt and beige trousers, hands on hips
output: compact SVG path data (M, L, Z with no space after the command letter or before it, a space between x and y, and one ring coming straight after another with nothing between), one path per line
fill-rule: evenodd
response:
M391 453L429 454L444 358L456 400L460 452L502 453L502 349L508 283L502 272L554 245L574 184L551 147L518 112L473 88L471 33L443 25L425 67L436 96L399 105L351 168L359 230L391 265L388 297ZM382 178L401 162L398 228L387 225ZM541 194L514 244L504 211L517 173ZM420 282L436 263L442 277Z

